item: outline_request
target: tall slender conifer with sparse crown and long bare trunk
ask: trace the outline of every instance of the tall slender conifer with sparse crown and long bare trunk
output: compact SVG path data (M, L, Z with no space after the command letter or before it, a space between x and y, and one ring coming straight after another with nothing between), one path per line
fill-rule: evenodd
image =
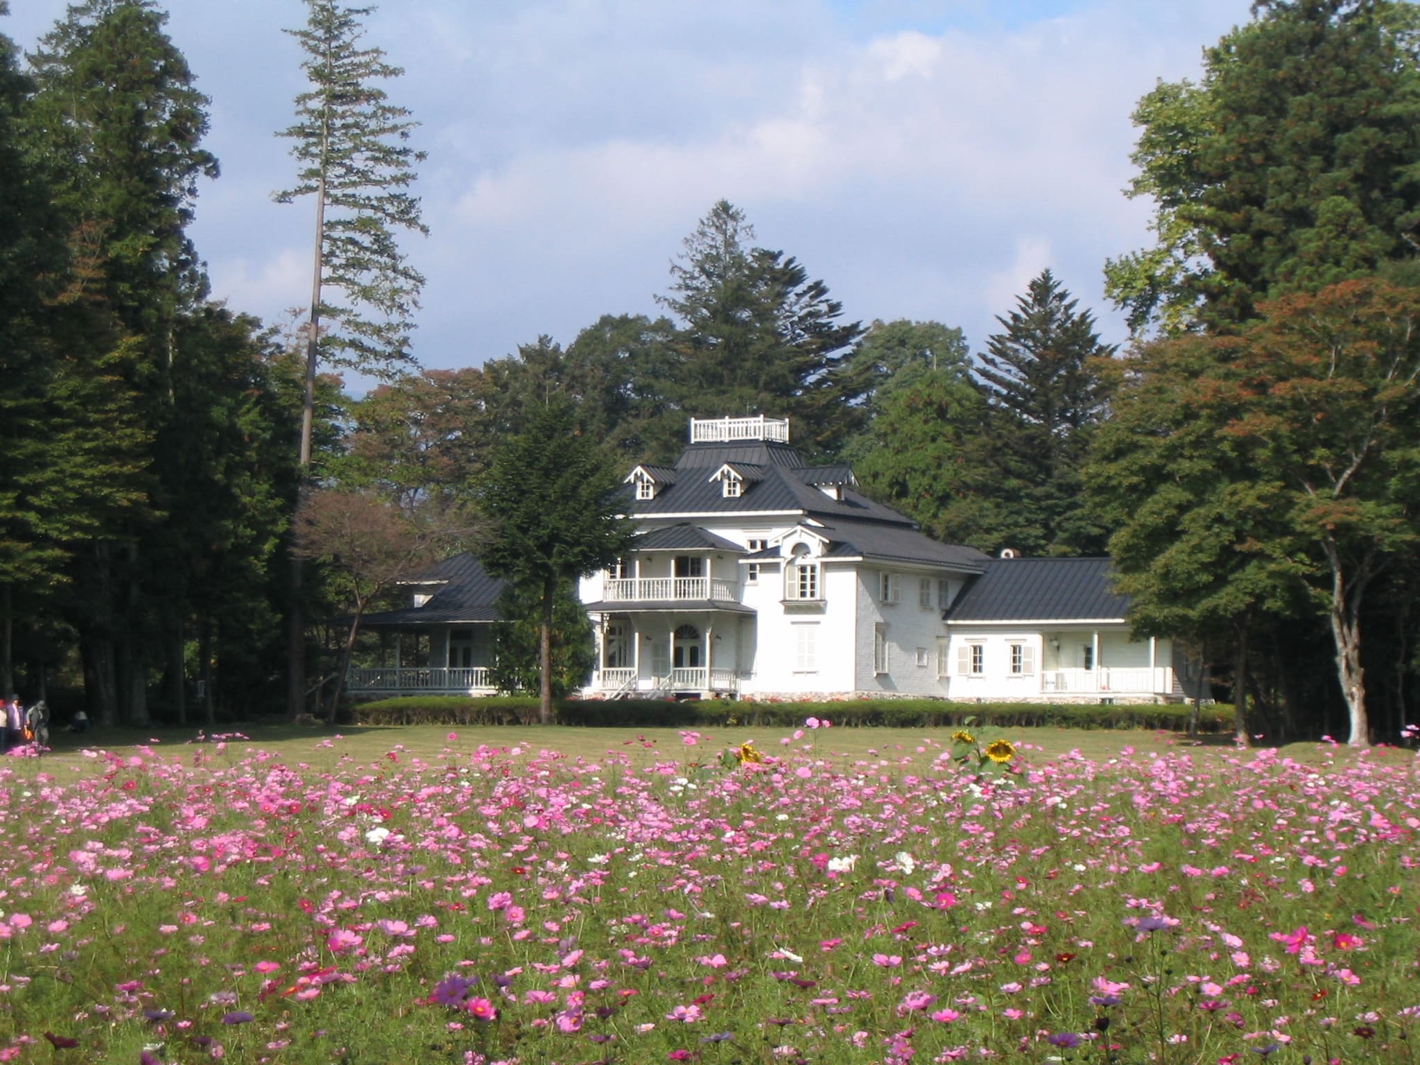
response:
M301 43L310 88L295 98L297 122L280 132L295 143L297 183L275 199L311 196L315 204L311 308L305 335L300 463L311 463L315 375L324 359L388 376L413 362L409 332L425 278L399 250L396 231L427 233L419 199L408 189L425 158L409 145L416 122L389 102L378 81L403 71L364 47L362 20L373 7L305 0L307 23L288 30ZM331 294L339 294L339 302ZM287 713L304 701L305 639L301 562L291 559Z

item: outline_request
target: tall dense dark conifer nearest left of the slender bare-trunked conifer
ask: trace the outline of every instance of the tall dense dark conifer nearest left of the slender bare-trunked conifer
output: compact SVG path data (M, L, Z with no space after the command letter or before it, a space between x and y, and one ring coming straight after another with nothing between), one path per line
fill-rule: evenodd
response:
M122 714L133 724L148 720L153 619L170 606L152 601L160 561L145 554L160 520L152 449L172 416L176 324L206 293L186 227L197 180L217 173L202 148L207 98L165 23L151 0L70 7L30 57L37 92L26 121L68 260L51 322L62 372L50 378L48 402L54 436L72 439L55 454L65 463L88 454L89 469L72 480L102 487L78 501L78 518L40 513L88 530L74 545L70 612L89 709L101 721ZM118 419L95 439L94 409L80 398L98 382L102 409ZM108 476L94 481L101 471ZM53 480L43 487L64 494Z

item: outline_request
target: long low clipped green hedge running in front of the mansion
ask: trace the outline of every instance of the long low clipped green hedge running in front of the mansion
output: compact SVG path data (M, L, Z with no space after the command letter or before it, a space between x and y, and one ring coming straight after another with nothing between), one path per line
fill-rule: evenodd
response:
M402 696L354 707L358 724L535 724L537 699L528 696ZM755 703L751 700L626 699L554 703L557 724L588 728L711 728L760 726L795 728L805 717L826 717L835 727L956 728L1167 728L1189 727L1191 707L1181 703L1081 704L1081 703L950 703L941 699L885 699L829 703ZM1233 711L1204 706L1198 728L1207 733L1231 727Z

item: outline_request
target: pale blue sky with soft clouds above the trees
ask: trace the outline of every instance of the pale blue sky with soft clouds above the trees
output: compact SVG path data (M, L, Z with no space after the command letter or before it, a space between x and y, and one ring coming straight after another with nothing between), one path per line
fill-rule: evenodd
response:
M65 9L23 0L21 48ZM172 0L169 34L212 97L193 237L213 293L274 320L310 290L310 206L278 206L302 88L297 0ZM657 311L670 260L717 199L797 256L851 320L958 325L980 351L1051 267L1105 338L1109 256L1147 241L1122 189L1129 115L1197 77L1248 0L386 0L369 43L423 124L432 234L416 355L477 365L601 314Z

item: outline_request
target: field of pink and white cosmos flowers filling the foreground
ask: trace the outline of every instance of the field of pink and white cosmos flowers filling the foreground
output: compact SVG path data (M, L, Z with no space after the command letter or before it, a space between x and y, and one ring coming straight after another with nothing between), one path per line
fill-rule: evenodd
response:
M0 1059L1420 1059L1411 751L454 738L0 760Z

